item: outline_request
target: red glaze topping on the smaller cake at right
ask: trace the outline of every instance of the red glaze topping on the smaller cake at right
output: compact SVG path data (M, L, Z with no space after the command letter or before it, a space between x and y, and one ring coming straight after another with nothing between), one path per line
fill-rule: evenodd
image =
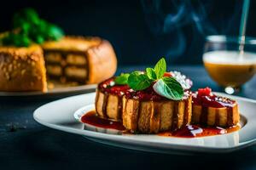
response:
M200 88L197 93L193 94L193 104L203 107L233 107L235 103L234 100L212 94L211 88Z

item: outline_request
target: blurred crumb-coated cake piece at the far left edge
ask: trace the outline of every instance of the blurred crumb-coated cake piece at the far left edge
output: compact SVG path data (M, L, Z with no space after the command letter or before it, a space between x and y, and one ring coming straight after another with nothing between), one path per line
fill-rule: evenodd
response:
M47 91L42 48L0 47L0 91Z

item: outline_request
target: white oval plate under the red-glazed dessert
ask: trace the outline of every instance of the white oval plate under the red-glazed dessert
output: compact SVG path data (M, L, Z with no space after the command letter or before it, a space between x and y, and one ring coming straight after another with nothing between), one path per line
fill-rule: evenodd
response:
M241 111L243 127L234 133L201 138L161 137L154 134L121 134L114 130L85 126L79 116L94 108L95 93L56 100L39 107L34 119L47 126L114 146L161 153L230 152L254 144L256 140L256 101L221 94L236 99ZM75 113L75 117L74 117ZM84 129L85 128L85 129Z

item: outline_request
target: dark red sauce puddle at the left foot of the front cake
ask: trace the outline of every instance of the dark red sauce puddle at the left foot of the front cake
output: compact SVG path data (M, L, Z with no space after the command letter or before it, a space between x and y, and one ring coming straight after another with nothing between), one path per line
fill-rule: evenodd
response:
M104 119L96 115L96 111L90 111L81 117L81 122L102 128L112 128L120 131L124 131L125 127L122 122L117 122L109 119Z

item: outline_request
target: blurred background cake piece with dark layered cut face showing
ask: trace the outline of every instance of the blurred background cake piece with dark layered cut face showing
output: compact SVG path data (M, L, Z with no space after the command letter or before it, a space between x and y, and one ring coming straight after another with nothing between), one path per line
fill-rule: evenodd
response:
M42 47L48 77L62 83L98 83L116 71L113 47L98 37L63 37Z

